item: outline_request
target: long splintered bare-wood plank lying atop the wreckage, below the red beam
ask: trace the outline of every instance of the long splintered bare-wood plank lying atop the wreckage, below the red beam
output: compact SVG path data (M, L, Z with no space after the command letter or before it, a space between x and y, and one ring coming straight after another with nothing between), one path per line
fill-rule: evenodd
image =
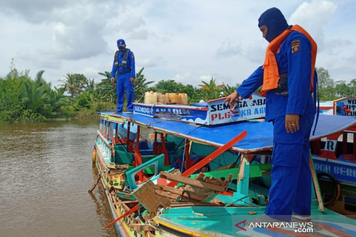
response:
M190 179L190 178L187 178L187 177L174 175L174 174L166 173L166 172L163 172L163 171L161 171L159 174L160 174L161 178L169 179L169 180L176 181L176 182L179 182L179 183L189 184L191 186L195 186L195 187L199 187L199 188L203 188L203 189L214 190L216 192L225 192L225 189L226 189L226 187L223 187L223 186L210 184L210 183L205 183L205 182L201 182L201 181L196 180L196 179Z

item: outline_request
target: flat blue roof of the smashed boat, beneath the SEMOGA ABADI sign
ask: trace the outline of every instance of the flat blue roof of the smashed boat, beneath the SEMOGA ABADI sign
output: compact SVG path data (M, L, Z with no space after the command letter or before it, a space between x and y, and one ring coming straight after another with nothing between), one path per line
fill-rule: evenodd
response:
M240 152L256 152L272 149L273 147L273 125L266 122L237 122L230 124L219 124L210 126L198 126L161 118L151 118L139 114L112 114L111 112L100 112L102 115L125 117L135 119L135 123L152 128L164 133L174 134L190 140L203 142L205 144L220 147L230 141L236 135L247 130L247 136L232 146L232 150ZM315 120L314 120L315 123ZM323 138L329 134L342 131L356 123L355 117L337 115L319 115L315 135L310 139ZM314 128L314 125L313 125Z

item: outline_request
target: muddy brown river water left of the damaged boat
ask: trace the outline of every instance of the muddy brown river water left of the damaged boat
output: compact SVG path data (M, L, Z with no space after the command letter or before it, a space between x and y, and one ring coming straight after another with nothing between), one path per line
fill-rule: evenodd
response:
M0 236L118 236L91 157L98 120L0 125Z

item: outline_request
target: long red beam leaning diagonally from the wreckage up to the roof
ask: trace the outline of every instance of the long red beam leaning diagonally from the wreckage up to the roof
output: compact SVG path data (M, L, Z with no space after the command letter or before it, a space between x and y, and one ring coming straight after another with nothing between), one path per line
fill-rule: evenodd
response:
M202 168L212 160L214 160L216 157L220 156L222 153L225 151L229 150L233 145L235 145L237 142L241 141L247 136L247 131L243 131L239 135L235 136L235 138L231 139L230 141L226 142L223 146L220 146L217 150L215 150L213 153L205 157L203 160L199 161L196 163L194 166L190 167L185 171L181 176L188 177L190 174L195 173L198 169ZM167 186L169 187L174 187L178 184L176 181L171 181Z

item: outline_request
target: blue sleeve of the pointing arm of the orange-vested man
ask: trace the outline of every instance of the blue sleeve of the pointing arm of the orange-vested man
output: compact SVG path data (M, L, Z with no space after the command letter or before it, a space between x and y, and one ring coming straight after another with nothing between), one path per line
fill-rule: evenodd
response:
M255 92L258 87L263 84L263 69L258 67L242 84L237 87L236 91L243 98L248 98L252 92Z

